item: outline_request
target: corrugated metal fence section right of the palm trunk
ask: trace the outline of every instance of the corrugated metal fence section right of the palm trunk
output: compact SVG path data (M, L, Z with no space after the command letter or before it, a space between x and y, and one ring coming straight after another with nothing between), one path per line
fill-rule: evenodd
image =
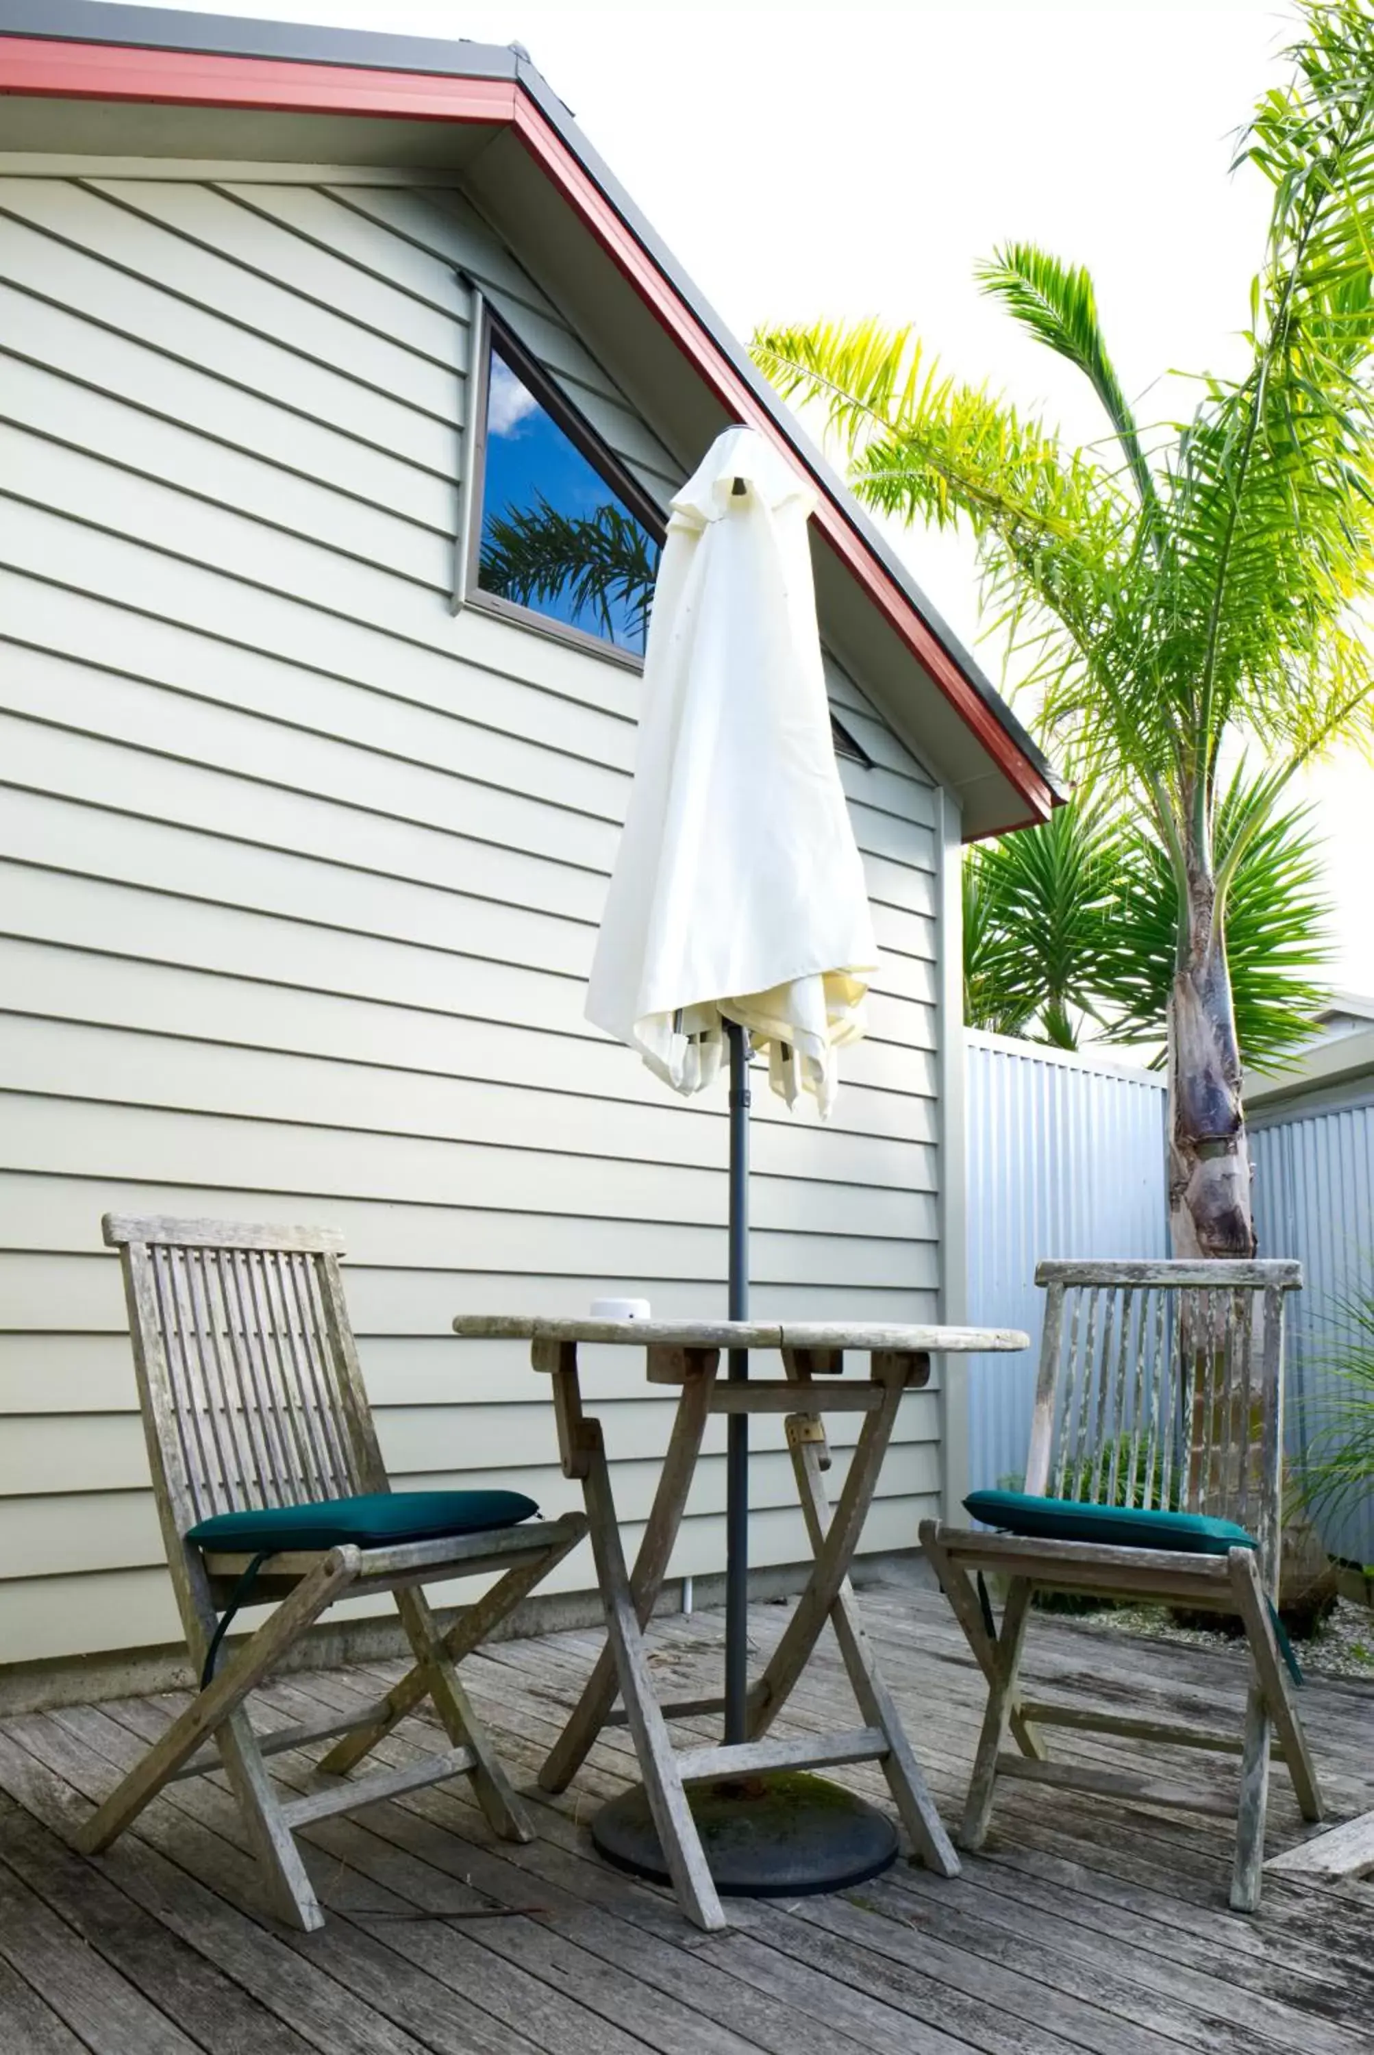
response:
M1374 1274L1374 1093L1368 1104L1290 1106L1251 1120L1259 1247L1302 1262L1288 1328L1288 1445L1321 1420L1333 1387L1323 1356L1339 1307ZM1319 1519L1337 1556L1374 1562L1374 1498Z

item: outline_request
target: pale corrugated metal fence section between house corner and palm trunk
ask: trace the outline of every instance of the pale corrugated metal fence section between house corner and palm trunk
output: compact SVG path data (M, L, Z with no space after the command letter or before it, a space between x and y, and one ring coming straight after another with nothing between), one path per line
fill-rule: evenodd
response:
M1041 1256L1169 1256L1165 1079L1111 1056L967 1032L969 1319L1025 1328L1025 1356L969 1365L969 1482L1021 1478Z

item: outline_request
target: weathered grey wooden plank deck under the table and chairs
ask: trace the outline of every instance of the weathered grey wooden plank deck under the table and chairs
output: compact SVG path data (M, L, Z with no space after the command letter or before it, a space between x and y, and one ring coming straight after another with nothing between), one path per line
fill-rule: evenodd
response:
M939 1597L885 1591L863 1603L955 1819L982 1681ZM785 1617L780 1605L756 1609L760 1656ZM520 1782L598 1642L559 1634L464 1662ZM663 1693L709 1689L719 1642L715 1613L661 1621ZM267 1693L259 1720L318 1720L400 1669L292 1679ZM1243 1671L1222 1652L1037 1621L1027 1687L1068 1683L1078 1695L1091 1679L1107 1704L1187 1706L1212 1724L1238 1706ZM842 1724L846 1697L824 1644L789 1724L836 1724L836 1712ZM1226 1909L1222 1823L1033 1788L1006 1792L988 1852L957 1880L902 1864L836 1899L733 1901L737 1926L707 1938L589 1850L587 1813L631 1769L624 1732L596 1749L565 1800L540 1804L530 1847L493 1841L466 1786L322 1823L308 1833L310 1870L331 1919L304 1938L259 1915L220 1778L177 1784L99 1860L70 1852L70 1827L179 1704L125 1699L0 1724L2 2055L1353 2055L1372 2045L1374 1882L1275 1876L1259 1917L1245 1919ZM1374 1687L1312 1683L1302 1704L1333 1817L1374 1804ZM405 1732L384 1751L396 1763L415 1753ZM1078 1747L1113 1759L1107 1743ZM275 1767L294 1786L312 1773L298 1755ZM1204 1757L1183 1769L1201 1782L1234 1773ZM867 1769L854 1782L881 1790ZM1300 1833L1275 1769L1269 1852Z

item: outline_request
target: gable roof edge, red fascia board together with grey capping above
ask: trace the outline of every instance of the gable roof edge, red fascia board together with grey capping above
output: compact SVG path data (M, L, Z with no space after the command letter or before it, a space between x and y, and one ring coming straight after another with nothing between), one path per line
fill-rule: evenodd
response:
M265 35L259 31L277 25L168 16L156 8L97 8L86 0L53 0L47 6L0 0L0 86L8 92L511 125L721 405L770 440L780 438L801 458L822 493L817 528L826 543L998 764L1025 801L1029 820L1045 818L1064 797L1062 783L1010 709L748 353L727 339L725 325L661 249L546 80L513 49L294 27L283 43L290 55L263 58L249 53L244 43L251 35L261 51ZM99 25L97 16L103 16ZM31 23L37 33L27 33ZM187 27L168 31L168 23ZM131 41L136 35L148 41ZM173 37L179 47L168 47ZM446 68L405 70L413 58L431 66L442 58Z

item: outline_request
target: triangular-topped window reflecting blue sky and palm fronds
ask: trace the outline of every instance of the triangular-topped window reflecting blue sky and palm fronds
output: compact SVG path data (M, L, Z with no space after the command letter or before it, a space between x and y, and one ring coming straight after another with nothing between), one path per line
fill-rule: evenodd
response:
M491 319L483 405L470 596L643 658L663 538L647 493Z

